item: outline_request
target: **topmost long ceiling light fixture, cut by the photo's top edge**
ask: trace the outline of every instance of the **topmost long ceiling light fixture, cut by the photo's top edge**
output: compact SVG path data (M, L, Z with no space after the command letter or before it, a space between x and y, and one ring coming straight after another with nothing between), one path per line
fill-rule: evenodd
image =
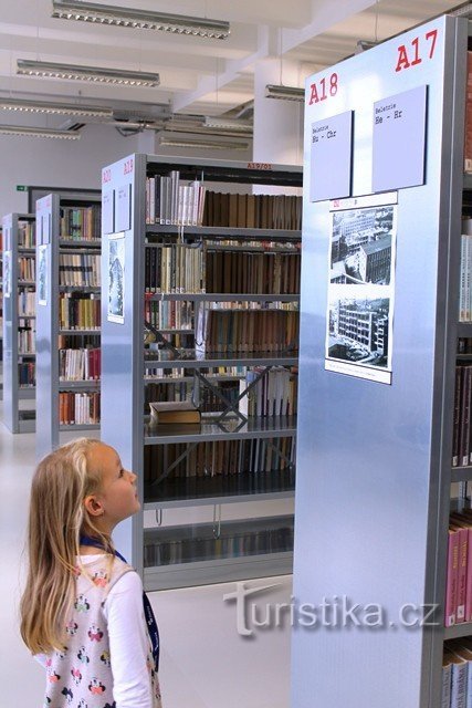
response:
M230 34L229 22L169 14L134 8L82 2L82 0L53 0L52 17L61 20L82 20L97 24L113 24L140 30L161 30L176 34L190 34L224 40Z

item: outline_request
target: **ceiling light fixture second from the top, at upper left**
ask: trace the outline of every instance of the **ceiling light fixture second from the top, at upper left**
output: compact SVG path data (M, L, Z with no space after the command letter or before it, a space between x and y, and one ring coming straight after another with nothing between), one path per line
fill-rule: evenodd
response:
M73 79L124 86L158 86L159 74L145 71L126 71L123 69L105 69L104 66L77 66L74 64L56 64L54 62L36 62L29 59L17 61L17 74L53 79Z

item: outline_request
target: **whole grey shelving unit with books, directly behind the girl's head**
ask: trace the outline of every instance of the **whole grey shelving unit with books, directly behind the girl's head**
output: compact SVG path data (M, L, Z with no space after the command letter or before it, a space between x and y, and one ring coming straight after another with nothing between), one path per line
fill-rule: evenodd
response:
M170 179L177 190L174 207L162 196ZM196 183L206 187L207 211L203 219L197 211L186 219L188 201L197 204L186 189ZM292 220L284 226L274 228L268 210L275 207L252 195L253 186L262 190L265 185L290 192L285 207ZM144 509L118 525L115 541L143 571L148 590L291 572L292 510L273 513L271 504L263 506L294 496L296 416L245 415L240 403L250 397L252 372L259 381L274 371L296 378L297 331L270 353L264 336L273 331L262 322L294 317L297 326L301 214L297 225L294 195L301 186L300 167L139 154L103 170L102 439L138 473ZM213 196L218 191L233 194ZM283 195L273 199L284 204ZM191 226L216 222L210 205L220 215L218 223L227 225ZM259 271L258 258L264 261ZM268 268L270 258L273 264L287 259L276 290L268 287L279 268ZM209 340L202 323L207 334L212 326L213 334L225 337L213 342L211 352L203 346ZM252 351L250 340L258 334L259 351ZM245 343L243 352L238 341ZM296 395L296 383L293 388ZM150 402L189 398L202 412L201 424L154 427L149 421ZM243 504L254 501L258 510L251 506L249 518L221 520L222 504L241 502L244 517ZM210 519L193 522L192 511L206 513L204 508ZM162 521L179 510L179 521Z

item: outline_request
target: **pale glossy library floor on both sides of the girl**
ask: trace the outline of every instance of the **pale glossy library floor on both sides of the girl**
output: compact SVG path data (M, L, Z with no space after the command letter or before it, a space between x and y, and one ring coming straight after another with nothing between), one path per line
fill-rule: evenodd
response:
M0 402L0 420L2 403ZM29 486L34 468L34 435L11 435L0 424L0 705L42 706L43 669L30 657L18 632L18 601ZM261 595L259 620L271 603L290 602L292 579L250 581L247 587L273 583ZM290 626L237 631L234 602L223 595L234 583L151 593L161 635L160 683L164 708L287 708ZM6 657L7 660L6 660ZM21 690L19 689L21 687Z

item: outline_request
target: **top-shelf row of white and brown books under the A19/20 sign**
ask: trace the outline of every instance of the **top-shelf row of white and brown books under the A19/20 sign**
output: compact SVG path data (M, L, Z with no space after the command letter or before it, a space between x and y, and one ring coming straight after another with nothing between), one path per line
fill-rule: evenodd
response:
M301 229L302 197L210 191L199 180L180 184L172 170L147 178L146 223Z

